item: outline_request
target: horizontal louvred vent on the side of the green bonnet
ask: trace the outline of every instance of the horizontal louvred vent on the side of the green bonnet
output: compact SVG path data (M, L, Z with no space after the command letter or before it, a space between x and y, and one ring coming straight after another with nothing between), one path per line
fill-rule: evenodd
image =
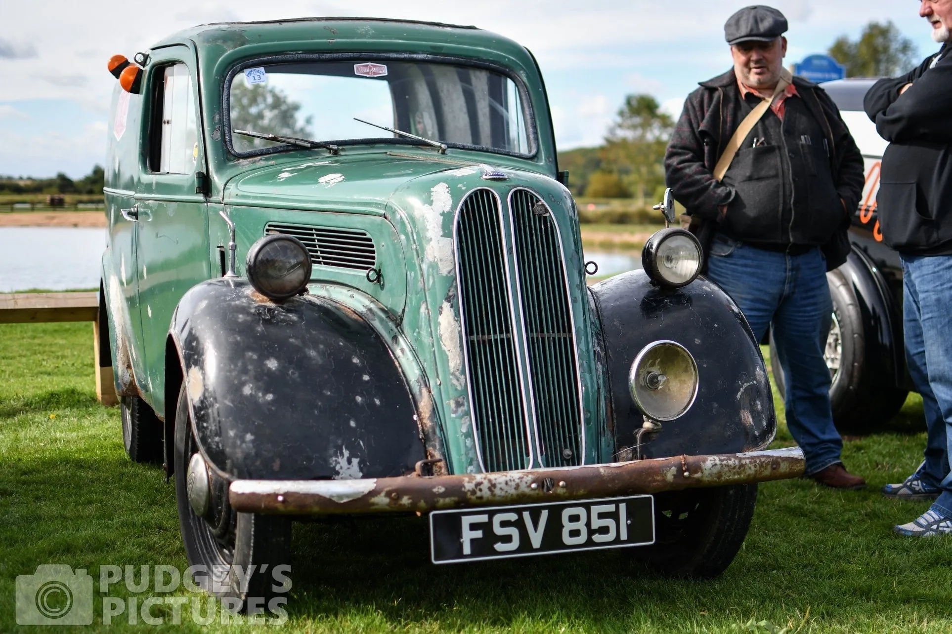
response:
M373 239L360 229L268 222L266 234L280 233L304 242L313 264L367 271L377 264Z

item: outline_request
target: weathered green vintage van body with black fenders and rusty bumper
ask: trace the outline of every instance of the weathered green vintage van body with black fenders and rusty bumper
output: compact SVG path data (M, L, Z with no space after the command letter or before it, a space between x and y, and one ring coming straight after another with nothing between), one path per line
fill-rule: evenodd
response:
M342 144L339 154L290 148L237 155L227 143L229 78L257 60L294 55L344 60L391 56L502 68L521 85L530 151L519 155L450 144L441 152L421 144L366 143ZM109 242L102 259L102 304L109 318L116 392L144 401L163 426L159 437L165 439L167 472L172 471L173 418L183 384L202 455L209 469L232 482L233 505L241 497L234 481L243 479L354 479L367 483L367 489L354 485L363 492L343 501L334 497L334 504L339 503L341 512L361 512L506 504L545 494L571 498L750 484L802 472L802 454L764 451L776 432L764 360L744 317L720 289L703 277L683 288L664 288L642 271L587 286L578 213L561 182L565 179L558 170L543 78L526 48L470 27L327 18L205 25L159 42L142 61L141 93L116 86L110 111ZM198 143L188 174L159 173L149 162L156 143L152 95L161 81L159 70L171 64L188 67L196 108ZM479 256L481 243L467 243L466 255L460 233L466 205L477 195L497 201L500 222L498 233L479 240L488 243L502 236L500 253L506 254L501 262L478 270L464 259ZM223 216L235 225L238 281L223 278L229 242ZM524 235L524 229L515 225L529 221L547 227L545 235L555 241L517 244L514 236ZM307 295L270 302L242 278L243 262L256 240L288 226L363 232L372 241L373 265L355 269L314 260ZM536 287L526 278L530 266L558 275ZM506 288L494 288L507 294L512 310L505 336L516 356L513 367L533 367L535 378L522 371L506 378L500 374L502 362L474 365L476 339L485 342L495 335L466 336L466 311L477 307L472 302L467 308L461 300L463 271L478 282L471 288L488 288L491 275L506 280ZM558 283L550 283L553 279ZM559 302L567 307L564 317L571 332L542 333L526 318ZM327 370L321 358L308 360L301 354L327 353L325 360L345 363L344 356L327 352L334 336L341 339L342 350L356 346L355 364L365 357L378 359L380 367L368 370L363 380L403 385L392 388L393 402L400 403L393 411L362 406L360 415L349 419L355 430L349 436L347 426L330 432L310 420L311 411L342 420L349 415L338 401L327 405L321 394L356 394L363 402L355 392L358 386L345 380L352 369ZM565 340L570 349L554 343ZM628 369L645 346L664 340L678 342L693 355L700 387L691 409L665 422L662 430L657 423L651 427L633 400ZM266 373L246 380L235 374L242 359L257 358L266 343L271 346L268 363L286 364L296 382L288 382L288 375L268 378ZM552 352L556 350L562 352ZM534 357L544 354L554 356L543 361ZM300 376L311 372L315 374ZM488 381L491 389L476 391L477 380ZM235 405L246 402L243 391L245 396L277 397L248 401L243 409ZM514 423L526 430L527 440L480 436L474 402L491 411L496 394L499 402L522 398L527 404L526 420L519 413ZM574 411L548 412L556 402L574 403ZM556 427L562 424L560 416L577 420L578 437L544 438L551 423L543 421L545 416L554 416ZM502 424L496 420L500 417L505 415L484 416ZM355 443L363 446L375 436L397 433L393 430L401 425L406 433L399 433L409 447L405 457L384 469L373 464L367 450L358 462ZM295 433L300 433L296 447ZM228 434L259 444L253 451L228 445ZM393 442L394 447L400 444ZM528 446L513 450L512 443L520 442ZM379 448L374 451L379 455ZM526 451L526 463L509 459ZM718 457L723 454L733 457ZM659 461L656 472L653 479L639 479L643 475L636 475L636 468L647 469L648 458ZM665 460L680 460L683 468ZM606 465L621 471L599 471ZM629 468L635 471L625 471ZM533 472L545 469L568 471L546 475L539 481L542 486L485 479L502 471L534 477ZM576 487L572 470L581 470L584 484ZM476 479L447 480L447 487L469 491L454 498L441 497L442 486L431 488L426 499L398 493L398 487L387 489L386 499L361 502L375 486L384 486L383 480L368 478L409 482L421 476ZM274 500L283 501L284 494L262 499L255 498L254 504L263 506L254 512L283 512ZM307 502L295 512L327 508Z

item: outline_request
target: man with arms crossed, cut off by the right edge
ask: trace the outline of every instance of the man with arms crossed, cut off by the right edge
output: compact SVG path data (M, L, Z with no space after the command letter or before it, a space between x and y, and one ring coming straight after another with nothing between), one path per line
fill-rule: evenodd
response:
M905 482L886 485L897 499L932 499L903 535L952 533L952 0L922 0L938 54L866 93L866 114L890 144L883 153L877 208L883 241L902 257L902 321L909 375L922 394L928 427L925 461Z

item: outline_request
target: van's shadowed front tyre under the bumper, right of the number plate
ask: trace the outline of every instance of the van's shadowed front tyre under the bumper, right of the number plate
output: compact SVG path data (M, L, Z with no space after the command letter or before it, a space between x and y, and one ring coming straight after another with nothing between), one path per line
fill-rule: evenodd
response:
M711 579L744 544L757 485L687 489L655 495L655 543L635 548L650 567L675 577Z

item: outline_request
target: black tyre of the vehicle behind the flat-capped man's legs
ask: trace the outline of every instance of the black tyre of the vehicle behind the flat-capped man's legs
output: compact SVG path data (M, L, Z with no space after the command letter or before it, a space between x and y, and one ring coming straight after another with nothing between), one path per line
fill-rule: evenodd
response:
M826 339L826 367L830 370L830 406L833 422L840 432L862 433L882 427L902 409L909 393L883 385L884 368L876 367L871 354L873 341L867 341L863 329L863 313L849 280L840 270L826 274L833 320ZM770 369L780 394L786 394L783 369L777 358L777 347L770 335Z

